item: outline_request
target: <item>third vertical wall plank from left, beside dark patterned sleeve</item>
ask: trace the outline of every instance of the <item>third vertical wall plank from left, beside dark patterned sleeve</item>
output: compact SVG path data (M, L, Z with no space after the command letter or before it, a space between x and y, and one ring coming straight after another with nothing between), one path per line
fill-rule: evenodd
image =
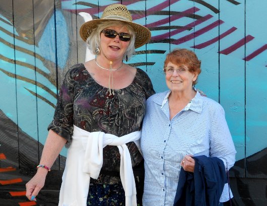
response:
M55 2L33 1L34 21L34 57L36 67L36 93L39 157L48 131L47 126L53 119L56 105L56 37L55 37ZM47 43L49 42L49 43ZM58 159L52 169L58 170Z

